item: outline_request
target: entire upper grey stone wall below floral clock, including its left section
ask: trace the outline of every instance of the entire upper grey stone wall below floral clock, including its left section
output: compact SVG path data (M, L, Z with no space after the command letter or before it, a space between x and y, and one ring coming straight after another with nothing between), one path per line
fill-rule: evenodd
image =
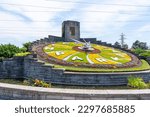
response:
M0 78L37 78L56 84L69 85L126 85L130 75L142 77L150 81L150 71L120 73L87 73L67 72L53 66L38 62L29 55L24 58L15 57L0 63Z

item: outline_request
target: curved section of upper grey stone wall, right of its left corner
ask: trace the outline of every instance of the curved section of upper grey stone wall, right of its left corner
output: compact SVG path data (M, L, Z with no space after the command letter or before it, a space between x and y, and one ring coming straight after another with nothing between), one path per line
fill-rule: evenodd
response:
M120 73L67 72L47 66L28 57L24 60L24 77L38 78L57 84L68 85L126 85L130 75L139 76L145 82L150 81L150 71Z

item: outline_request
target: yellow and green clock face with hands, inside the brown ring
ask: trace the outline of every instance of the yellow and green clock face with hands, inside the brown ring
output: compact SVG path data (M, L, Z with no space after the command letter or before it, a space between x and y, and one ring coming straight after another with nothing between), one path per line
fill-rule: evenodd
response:
M57 42L45 46L43 51L50 58L71 64L123 65L132 61L126 52L96 44Z

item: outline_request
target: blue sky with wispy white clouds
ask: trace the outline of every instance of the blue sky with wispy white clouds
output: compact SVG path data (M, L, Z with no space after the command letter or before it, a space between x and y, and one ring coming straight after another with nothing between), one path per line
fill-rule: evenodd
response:
M128 45L150 45L149 0L0 0L0 43L61 36L64 20L79 21L82 38L114 43L124 33Z

